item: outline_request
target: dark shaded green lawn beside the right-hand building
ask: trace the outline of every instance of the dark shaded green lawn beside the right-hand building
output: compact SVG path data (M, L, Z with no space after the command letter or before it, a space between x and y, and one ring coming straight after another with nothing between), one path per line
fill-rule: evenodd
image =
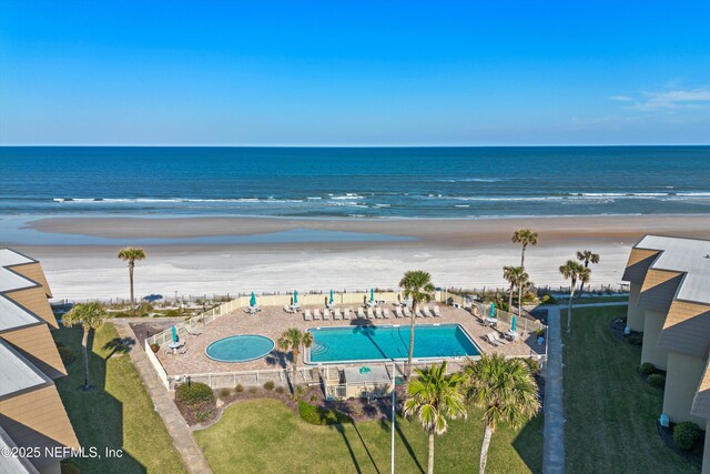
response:
M658 435L663 394L637 375L641 349L609 331L625 315L625 306L572 312L572 333L564 340L567 472L700 472Z

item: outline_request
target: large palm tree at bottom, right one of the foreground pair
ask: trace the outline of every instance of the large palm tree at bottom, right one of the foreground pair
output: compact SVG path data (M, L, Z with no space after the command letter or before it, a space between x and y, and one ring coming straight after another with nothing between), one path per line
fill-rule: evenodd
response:
M520 359L501 354L484 354L479 361L464 366L466 397L484 410L484 442L480 447L479 472L486 471L490 438L499 423L514 430L521 427L540 409L537 385L527 364Z

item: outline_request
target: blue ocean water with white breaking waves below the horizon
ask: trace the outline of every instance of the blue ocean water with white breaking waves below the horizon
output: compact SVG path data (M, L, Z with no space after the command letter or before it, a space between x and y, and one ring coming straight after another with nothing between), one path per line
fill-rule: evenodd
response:
M0 148L0 215L710 212L710 147Z

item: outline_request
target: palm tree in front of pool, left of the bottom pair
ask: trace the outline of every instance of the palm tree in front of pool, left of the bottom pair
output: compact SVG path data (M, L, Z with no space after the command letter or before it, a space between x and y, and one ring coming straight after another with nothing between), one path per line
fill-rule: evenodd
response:
M448 420L466 417L466 405L460 386L465 382L463 374L446 375L446 361L442 365L432 364L429 369L417 369L417 379L407 385L407 400L404 414L417 415L422 426L429 433L429 461L427 473L434 473L434 435L443 435Z

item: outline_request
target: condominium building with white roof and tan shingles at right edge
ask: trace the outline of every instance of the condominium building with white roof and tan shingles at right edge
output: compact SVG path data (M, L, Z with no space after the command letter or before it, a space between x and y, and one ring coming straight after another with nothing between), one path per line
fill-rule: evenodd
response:
M663 413L710 433L710 241L647 235L623 272L627 326L643 333L641 363L666 371ZM710 473L710 435L703 473Z

